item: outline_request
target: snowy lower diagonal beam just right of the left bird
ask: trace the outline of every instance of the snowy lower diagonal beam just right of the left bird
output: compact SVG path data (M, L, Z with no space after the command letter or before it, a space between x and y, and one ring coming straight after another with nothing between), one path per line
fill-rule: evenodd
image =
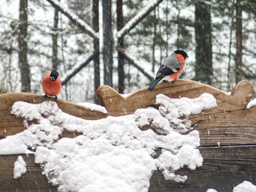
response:
M84 61L84 63L81 63L79 65L75 65L71 70L69 70L67 72L67 74L65 74L65 76L62 79L61 81L61 85L65 85L67 84L67 82L74 76L76 76L76 74L84 67L86 67L86 65L88 65L88 63L90 63L90 61L93 60L93 58L95 58L95 56L98 56L99 54L99 50L97 51L93 51L89 56L88 58L86 59L86 61Z

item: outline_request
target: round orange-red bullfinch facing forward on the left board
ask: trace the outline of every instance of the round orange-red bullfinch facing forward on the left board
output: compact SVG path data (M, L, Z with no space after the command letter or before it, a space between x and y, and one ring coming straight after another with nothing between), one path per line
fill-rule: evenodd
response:
M55 70L47 73L42 80L41 85L45 93L45 99L47 95L49 95L50 97L55 97L55 99L57 99L57 95L59 95L61 92L61 81L59 73Z

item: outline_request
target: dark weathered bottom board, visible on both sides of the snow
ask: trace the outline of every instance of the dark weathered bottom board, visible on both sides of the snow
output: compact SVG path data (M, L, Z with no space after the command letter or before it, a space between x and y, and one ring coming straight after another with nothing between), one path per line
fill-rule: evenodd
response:
M148 192L206 192L209 188L227 192L244 180L256 185L256 146L200 148L200 153L204 157L203 166L194 171L182 168L177 172L188 175L184 184L165 180L162 173L157 171L150 179ZM18 155L0 156L1 192L57 191L56 187L47 183L38 164L33 163L33 154L29 157L22 155L27 163L27 172L20 179L13 179L13 164L17 157Z

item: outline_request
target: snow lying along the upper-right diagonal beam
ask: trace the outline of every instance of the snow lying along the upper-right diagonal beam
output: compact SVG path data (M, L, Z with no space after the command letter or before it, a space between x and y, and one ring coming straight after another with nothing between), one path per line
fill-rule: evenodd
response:
M159 4L159 2L161 1L163 0L154 0L154 1L148 2L148 5L145 6L145 8L143 8L137 15L135 15L131 20L129 20L129 22L127 22L124 28L118 31L117 33L118 38L122 37L124 33L126 33L126 31L130 31L132 26L134 26L134 24L138 22L138 20L140 20L141 17L144 17L145 15L147 15L148 10L150 10L152 7L155 7L156 4Z

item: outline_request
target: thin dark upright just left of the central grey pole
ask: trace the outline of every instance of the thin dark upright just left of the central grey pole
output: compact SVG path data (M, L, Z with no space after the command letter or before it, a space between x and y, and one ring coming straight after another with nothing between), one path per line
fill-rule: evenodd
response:
M99 0L93 0L93 6L92 6L92 25L94 31L99 31ZM93 40L93 47L94 50L99 50L99 40L94 39ZM100 54L93 58L94 63L94 93L96 94L96 90L100 86ZM97 99L96 95L94 97L94 103L99 104L99 100Z

